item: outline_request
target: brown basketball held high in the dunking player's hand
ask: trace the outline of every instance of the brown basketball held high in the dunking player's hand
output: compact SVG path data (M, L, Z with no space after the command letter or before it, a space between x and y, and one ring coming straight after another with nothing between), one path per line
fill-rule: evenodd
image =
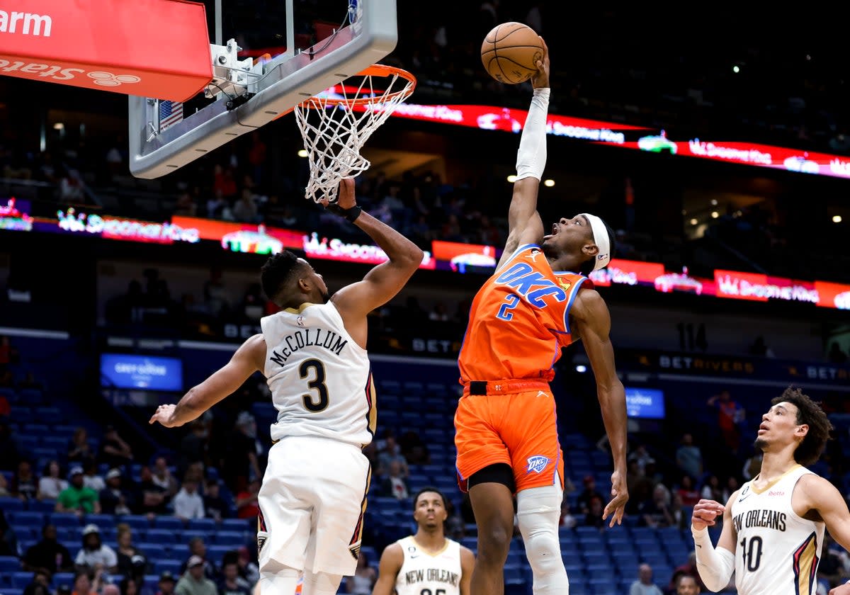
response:
M510 85L529 80L542 57L540 36L522 23L496 25L481 44L481 62L490 77Z

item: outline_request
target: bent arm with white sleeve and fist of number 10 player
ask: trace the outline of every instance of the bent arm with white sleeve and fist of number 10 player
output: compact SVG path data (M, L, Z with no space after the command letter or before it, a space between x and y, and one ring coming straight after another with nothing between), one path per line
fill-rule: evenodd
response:
M732 520L732 504L738 498L736 491L723 504L713 500L700 500L694 506L691 515L691 533L694 536L696 550L696 569L709 591L717 592L725 588L735 570L735 541L737 531ZM717 540L717 548L711 545L708 527L717 524L717 517L723 514L723 529Z

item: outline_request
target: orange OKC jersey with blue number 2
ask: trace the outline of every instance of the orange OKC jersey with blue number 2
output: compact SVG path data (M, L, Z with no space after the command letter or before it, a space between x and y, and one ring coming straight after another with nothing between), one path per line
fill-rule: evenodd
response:
M473 299L458 359L461 382L552 380L561 348L573 342L570 306L587 277L554 272L536 244L520 246Z

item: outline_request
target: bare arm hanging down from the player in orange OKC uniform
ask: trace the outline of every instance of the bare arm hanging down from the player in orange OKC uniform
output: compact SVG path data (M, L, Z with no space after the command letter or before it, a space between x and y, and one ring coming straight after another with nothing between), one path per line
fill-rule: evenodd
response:
M572 331L581 337L596 378L596 396L614 459L611 501L603 512L604 519L611 515L609 526L613 526L622 523L629 492L626 487L626 390L617 376L614 347L609 337L611 314L596 290L581 289L570 309L570 318L577 327Z

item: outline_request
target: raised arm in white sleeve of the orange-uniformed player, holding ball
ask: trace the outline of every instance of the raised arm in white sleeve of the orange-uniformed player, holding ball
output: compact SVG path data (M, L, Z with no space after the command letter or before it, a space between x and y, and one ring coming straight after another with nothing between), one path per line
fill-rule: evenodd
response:
M543 57L531 77L534 97L517 151L517 181L513 183L511 207L507 211L507 242L499 266L524 244L537 243L543 237L543 222L537 213L537 194L546 167L546 120L549 110L549 51L543 42Z

